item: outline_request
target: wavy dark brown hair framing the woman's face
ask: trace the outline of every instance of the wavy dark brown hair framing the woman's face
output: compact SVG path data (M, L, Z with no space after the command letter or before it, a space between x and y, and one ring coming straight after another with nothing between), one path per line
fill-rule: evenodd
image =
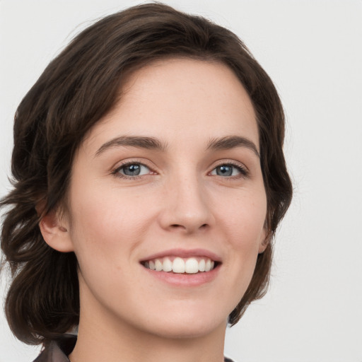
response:
M79 318L76 257L45 243L35 206L44 203L47 214L62 204L74 153L119 99L124 76L169 57L218 61L234 71L257 114L269 240L288 209L292 187L282 150L284 112L269 76L243 42L205 18L163 4L134 6L101 19L47 66L16 111L13 190L0 203L6 206L1 249L13 276L6 316L25 343L47 343L76 326ZM271 254L269 243L257 257L250 286L229 316L230 325L252 300L264 296Z

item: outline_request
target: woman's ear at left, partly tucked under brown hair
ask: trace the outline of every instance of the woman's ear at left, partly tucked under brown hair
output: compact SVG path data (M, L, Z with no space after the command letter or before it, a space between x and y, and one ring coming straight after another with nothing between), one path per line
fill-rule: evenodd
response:
M36 208L38 210L38 208ZM61 217L56 210L49 211L41 217L39 222L40 232L45 243L59 252L74 251L69 234L69 223Z

